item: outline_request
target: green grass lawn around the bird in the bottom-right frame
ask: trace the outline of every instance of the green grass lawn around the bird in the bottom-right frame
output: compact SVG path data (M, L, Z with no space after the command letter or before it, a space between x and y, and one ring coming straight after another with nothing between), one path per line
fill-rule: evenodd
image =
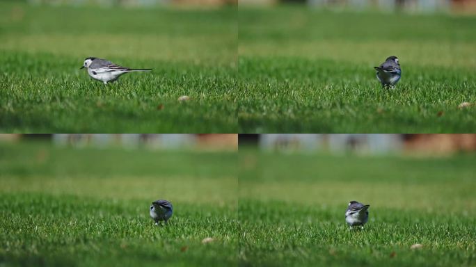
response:
M475 266L474 155L239 153L241 266ZM350 230L347 203L370 204ZM422 248L412 250L420 243Z

